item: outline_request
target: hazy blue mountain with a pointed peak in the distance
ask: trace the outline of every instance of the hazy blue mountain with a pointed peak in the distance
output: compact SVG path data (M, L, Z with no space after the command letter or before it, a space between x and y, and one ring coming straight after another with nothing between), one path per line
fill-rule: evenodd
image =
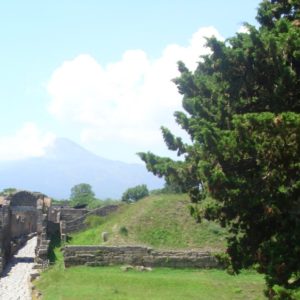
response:
M63 138L56 139L43 157L0 162L0 178L0 189L39 191L58 199L68 198L79 183L90 184L101 199L120 198L138 184L149 189L163 186L143 165L102 158Z

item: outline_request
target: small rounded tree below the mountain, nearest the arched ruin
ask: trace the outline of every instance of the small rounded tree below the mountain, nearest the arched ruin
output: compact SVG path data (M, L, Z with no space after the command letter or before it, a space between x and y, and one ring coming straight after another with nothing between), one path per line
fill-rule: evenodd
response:
M72 206L76 206L84 204L91 205L96 199L91 185L87 183L80 183L72 187L70 200Z

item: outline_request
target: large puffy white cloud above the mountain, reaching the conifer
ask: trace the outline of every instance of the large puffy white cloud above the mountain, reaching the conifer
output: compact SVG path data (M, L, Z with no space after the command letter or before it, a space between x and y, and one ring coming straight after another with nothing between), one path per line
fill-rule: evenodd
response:
M201 28L188 46L168 45L158 59L129 50L105 66L89 54L65 61L47 85L49 111L80 125L83 142L161 143L160 126L176 128L173 113L181 109L181 95L171 82L179 75L177 62L195 70L200 55L208 54L205 36L212 35L222 39L213 27Z

